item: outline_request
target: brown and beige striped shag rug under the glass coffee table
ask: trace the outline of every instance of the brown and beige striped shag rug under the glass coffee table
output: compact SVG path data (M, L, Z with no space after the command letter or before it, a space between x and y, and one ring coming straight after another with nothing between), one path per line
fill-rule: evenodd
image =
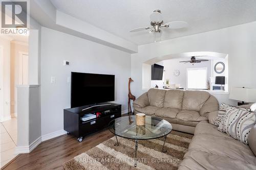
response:
M63 163L66 170L75 169L178 169L193 135L172 131L167 135L161 152L163 138L139 140L137 167L135 163L135 140L115 136L96 147Z

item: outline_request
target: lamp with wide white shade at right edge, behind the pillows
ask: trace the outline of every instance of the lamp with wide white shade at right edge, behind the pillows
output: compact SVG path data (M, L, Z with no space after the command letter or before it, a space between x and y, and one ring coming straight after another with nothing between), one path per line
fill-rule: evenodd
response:
M244 102L256 102L256 89L245 87L232 87L229 99L242 101L238 102L238 106L244 105Z

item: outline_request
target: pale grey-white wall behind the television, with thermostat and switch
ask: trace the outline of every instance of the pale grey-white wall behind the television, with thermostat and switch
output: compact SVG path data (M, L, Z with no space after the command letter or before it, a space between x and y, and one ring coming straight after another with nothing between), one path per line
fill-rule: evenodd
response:
M70 66L63 66L63 60L70 61ZM127 109L131 54L42 27L42 135L63 129L63 109L70 107L70 83L67 80L71 71L115 75L115 102L122 104L122 110ZM51 77L56 78L56 83L51 83Z

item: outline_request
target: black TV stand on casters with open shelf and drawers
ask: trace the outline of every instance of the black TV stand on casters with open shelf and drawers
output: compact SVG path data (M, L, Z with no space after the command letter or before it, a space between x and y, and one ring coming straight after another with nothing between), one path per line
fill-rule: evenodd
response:
M101 116L82 121L80 118L84 114L96 114L100 112ZM106 126L109 122L117 117L121 117L121 105L114 103L99 103L97 105L87 105L63 110L64 130L68 134L77 137L79 142L89 133L98 131Z

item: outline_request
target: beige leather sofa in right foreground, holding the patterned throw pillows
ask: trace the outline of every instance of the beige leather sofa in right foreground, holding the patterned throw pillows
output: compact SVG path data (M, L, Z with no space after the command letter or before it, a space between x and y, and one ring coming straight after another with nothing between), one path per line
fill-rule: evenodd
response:
M256 169L256 125L249 133L249 145L233 139L217 128L207 122L197 125L179 170Z

